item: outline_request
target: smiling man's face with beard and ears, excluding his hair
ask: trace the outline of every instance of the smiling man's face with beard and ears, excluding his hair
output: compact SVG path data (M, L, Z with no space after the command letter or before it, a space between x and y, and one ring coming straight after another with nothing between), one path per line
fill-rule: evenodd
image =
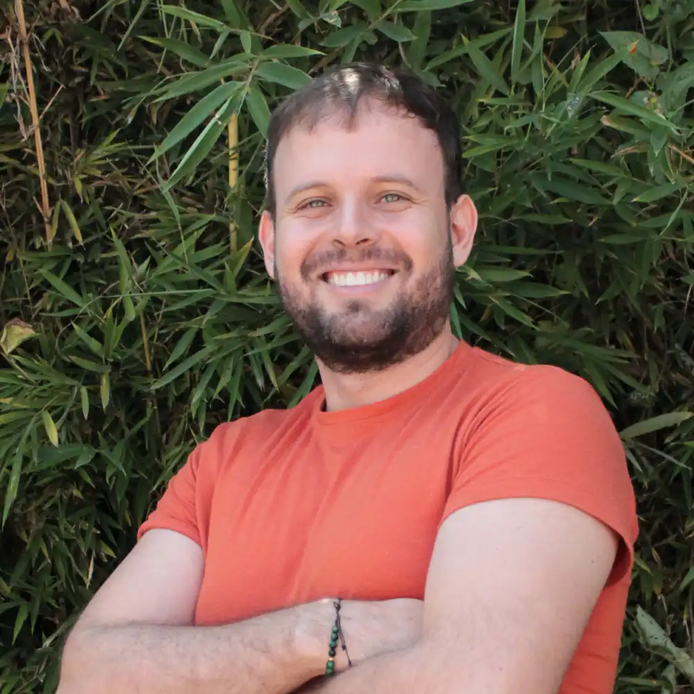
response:
M379 103L360 105L353 128L332 115L289 130L273 180L276 214L260 228L266 265L316 357L365 373L431 344L472 240L467 230L461 247L452 217L461 201L474 210L461 198L449 219L435 133Z

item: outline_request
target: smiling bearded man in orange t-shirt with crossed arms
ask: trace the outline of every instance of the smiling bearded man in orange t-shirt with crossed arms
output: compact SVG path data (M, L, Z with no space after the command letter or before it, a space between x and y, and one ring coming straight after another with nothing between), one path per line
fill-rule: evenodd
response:
M341 67L273 114L260 242L322 385L194 450L60 694L612 691L623 448L584 380L453 337L460 167L454 115L407 74Z

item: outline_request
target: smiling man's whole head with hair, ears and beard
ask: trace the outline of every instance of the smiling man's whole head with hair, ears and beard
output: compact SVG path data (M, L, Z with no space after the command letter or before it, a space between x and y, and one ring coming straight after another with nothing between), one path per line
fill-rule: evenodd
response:
M333 371L380 371L446 328L477 225L461 160L446 102L385 67L340 67L273 113L260 241L285 309Z

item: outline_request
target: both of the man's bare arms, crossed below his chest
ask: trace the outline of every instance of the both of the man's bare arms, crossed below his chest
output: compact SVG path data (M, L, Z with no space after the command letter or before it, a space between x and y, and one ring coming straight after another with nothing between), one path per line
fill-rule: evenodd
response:
M355 604L345 636L350 654L365 657L323 679L329 602L191 627L199 548L179 537L144 551L146 539L69 638L59 694L285 694L303 685L325 694L515 694L519 682L523 691L555 694L618 550L608 527L557 502L460 509L439 532L417 638L398 643L387 619L363 623L379 614L378 603L371 612Z

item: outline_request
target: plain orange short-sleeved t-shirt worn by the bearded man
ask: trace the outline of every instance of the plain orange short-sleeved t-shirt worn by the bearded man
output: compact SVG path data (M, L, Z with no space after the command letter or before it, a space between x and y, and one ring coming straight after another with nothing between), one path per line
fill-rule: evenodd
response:
M169 528L205 552L196 624L231 623L330 595L423 599L443 520L485 500L582 509L623 539L561 694L609 694L638 532L618 434L581 378L462 342L403 393L219 426L139 529Z

